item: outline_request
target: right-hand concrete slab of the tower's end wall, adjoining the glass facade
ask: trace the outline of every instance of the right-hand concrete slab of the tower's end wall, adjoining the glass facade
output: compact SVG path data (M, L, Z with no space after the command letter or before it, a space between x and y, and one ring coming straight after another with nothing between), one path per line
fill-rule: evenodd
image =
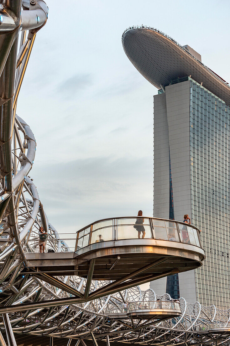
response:
M172 174L174 218L191 216L190 192L190 81L166 86L166 106ZM194 271L179 274L180 297L195 302Z

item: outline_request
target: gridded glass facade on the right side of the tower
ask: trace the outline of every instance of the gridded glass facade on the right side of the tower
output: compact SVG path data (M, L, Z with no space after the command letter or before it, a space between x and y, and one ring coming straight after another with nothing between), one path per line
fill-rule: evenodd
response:
M230 107L190 80L191 223L201 230L206 261L195 270L197 298L230 305Z

